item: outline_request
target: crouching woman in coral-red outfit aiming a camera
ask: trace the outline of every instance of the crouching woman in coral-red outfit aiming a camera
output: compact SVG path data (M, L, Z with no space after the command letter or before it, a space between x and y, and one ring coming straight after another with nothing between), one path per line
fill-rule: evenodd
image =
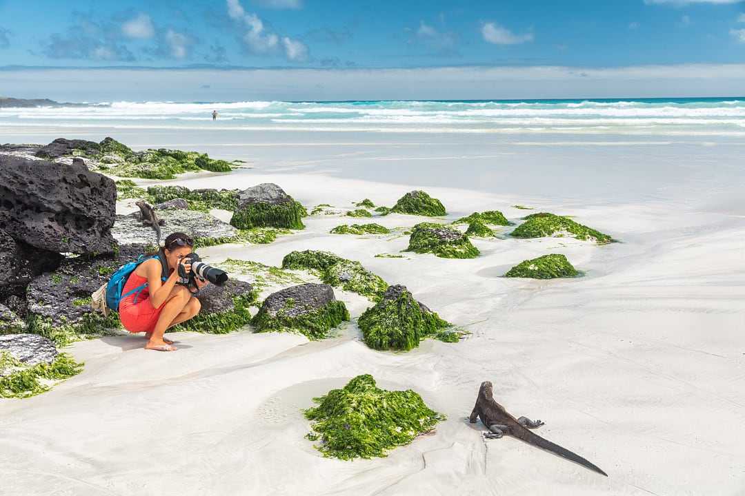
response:
M165 329L188 321L199 313L201 305L191 290L180 280L179 265L188 274L191 264L184 260L191 253L194 241L184 233L172 233L165 238L157 258L145 260L130 274L121 294L147 283L140 292L124 297L119 303L119 319L129 332L145 332L145 350L176 351L174 342L163 338ZM165 278L162 280L161 277ZM196 277L197 290L208 284Z

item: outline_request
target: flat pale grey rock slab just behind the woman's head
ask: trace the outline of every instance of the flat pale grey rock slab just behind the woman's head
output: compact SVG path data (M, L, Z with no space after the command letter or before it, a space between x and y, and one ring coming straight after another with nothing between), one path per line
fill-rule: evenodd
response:
M165 221L162 228L163 238L168 233L182 232L189 234L202 244L209 240L234 238L238 231L209 213L197 210L159 210L159 218ZM112 234L121 245L143 244L155 245L156 233L153 228L142 225L139 213L116 216L116 223ZM204 243L204 241L208 241Z

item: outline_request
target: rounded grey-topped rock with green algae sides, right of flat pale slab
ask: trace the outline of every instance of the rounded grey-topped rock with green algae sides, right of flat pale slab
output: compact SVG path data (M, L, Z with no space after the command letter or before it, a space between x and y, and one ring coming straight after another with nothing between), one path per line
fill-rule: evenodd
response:
M301 204L272 183L258 184L238 193L238 207L230 224L236 228L303 229L301 218L308 212Z

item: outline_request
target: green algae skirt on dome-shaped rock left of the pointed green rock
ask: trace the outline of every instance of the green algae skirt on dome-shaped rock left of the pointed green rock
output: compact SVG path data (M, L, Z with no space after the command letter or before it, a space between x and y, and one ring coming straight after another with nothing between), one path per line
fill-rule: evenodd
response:
M294 300L289 304L285 302L285 308L294 309ZM317 340L329 337L329 331L344 321L349 321L349 311L342 301L333 300L297 316L286 314L285 309L270 315L262 306L251 325L256 332L297 332L310 340Z

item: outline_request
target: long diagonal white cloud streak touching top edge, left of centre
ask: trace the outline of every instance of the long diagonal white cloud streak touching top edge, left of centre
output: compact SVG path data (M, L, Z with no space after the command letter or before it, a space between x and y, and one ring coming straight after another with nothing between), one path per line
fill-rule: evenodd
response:
M282 36L269 30L264 21L254 13L247 13L238 0L226 0L228 16L244 25L246 32L243 41L250 53L256 55L271 55L282 48L285 57L292 62L304 62L308 59L308 47L298 39Z

